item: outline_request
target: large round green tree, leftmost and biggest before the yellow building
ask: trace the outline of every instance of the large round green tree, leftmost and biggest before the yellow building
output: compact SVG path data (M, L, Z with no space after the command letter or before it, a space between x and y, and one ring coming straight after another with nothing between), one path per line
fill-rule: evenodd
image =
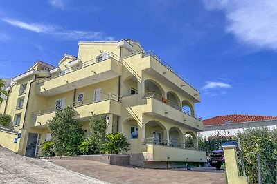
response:
M54 150L58 155L78 154L78 145L83 139L84 130L76 121L78 112L72 107L58 110L53 119L48 120L48 127L52 134Z

